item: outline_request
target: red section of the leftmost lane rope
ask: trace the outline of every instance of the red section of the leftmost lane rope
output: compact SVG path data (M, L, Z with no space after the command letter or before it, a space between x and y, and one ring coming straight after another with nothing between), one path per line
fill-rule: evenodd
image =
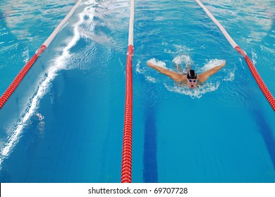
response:
M6 89L4 94L1 96L1 98L0 98L0 109L4 106L6 101L8 101L8 98L10 98L11 94L13 94L13 91L16 90L16 88L18 87L20 82L23 80L23 78L25 77L27 72L30 70L30 68L32 68L32 65L35 63L35 61L37 61L38 56L41 55L41 53L43 53L46 48L47 48L47 46L45 46L45 45L40 46L40 48L37 50L35 55L32 56L30 61L28 61L25 64L25 66L22 68L22 70L20 70L20 72L18 73L16 78L13 80L13 82L10 84L8 89Z

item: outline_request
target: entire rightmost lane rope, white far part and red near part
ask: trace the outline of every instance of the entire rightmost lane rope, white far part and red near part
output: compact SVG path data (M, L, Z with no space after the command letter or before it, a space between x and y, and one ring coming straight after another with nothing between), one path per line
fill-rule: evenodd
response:
M207 13L207 15L209 16L209 18L211 18L213 20L213 22L216 25L218 25L219 29L224 34L224 36L226 37L226 39L228 40L228 42L231 44L231 46L233 46L233 48L236 49L236 51L238 51L238 53L240 53L240 55L243 56L243 58L245 58L245 61L246 61L247 65L248 65L248 68L250 68L250 72L252 73L253 77L255 78L255 80L256 80L259 88L262 90L262 93L267 98L267 101L269 101L269 104L270 104L271 108L273 108L273 110L275 111L275 99L274 99L274 96L272 96L272 94L270 93L269 89L264 84L264 81L262 80L262 77L259 75L259 72L257 72L257 69L255 68L255 65L252 63L252 61L250 60L250 58L247 56L247 53L245 51L243 51L243 49L240 49L240 46L238 46L238 44L236 44L236 42L226 32L226 30L219 23L219 21L216 20L216 18L214 18L214 16L212 15L212 13L210 13L209 10L199 0L195 0L195 1L197 1L197 4L199 4L203 8L204 12Z

